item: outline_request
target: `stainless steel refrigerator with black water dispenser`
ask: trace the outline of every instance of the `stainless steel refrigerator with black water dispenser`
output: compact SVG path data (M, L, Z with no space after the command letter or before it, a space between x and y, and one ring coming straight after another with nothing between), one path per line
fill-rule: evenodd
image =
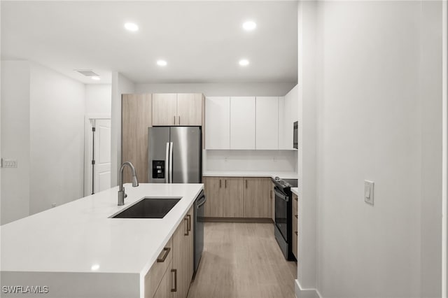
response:
M149 127L149 183L202 183L201 153L200 127Z

